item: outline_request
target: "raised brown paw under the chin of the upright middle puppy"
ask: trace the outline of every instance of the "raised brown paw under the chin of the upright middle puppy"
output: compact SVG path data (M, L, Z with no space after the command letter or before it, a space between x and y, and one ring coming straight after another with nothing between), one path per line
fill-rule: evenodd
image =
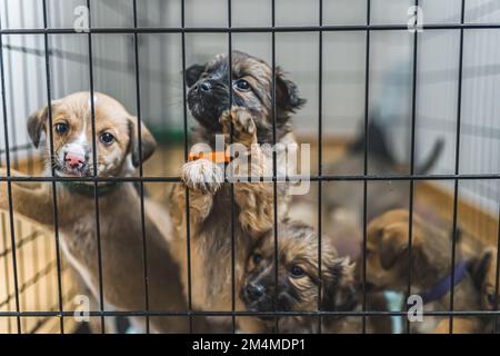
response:
M233 142L242 144L247 148L257 144L256 122L253 122L253 118L247 109L233 107L230 111L222 112L219 122L222 125L222 132L226 135L228 142L231 140L232 122Z

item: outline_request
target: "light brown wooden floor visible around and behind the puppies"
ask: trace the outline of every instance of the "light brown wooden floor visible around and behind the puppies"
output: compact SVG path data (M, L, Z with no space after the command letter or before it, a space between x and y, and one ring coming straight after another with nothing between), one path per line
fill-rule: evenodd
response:
M313 141L313 140L312 140ZM344 145L324 142L324 161L336 160L344 150ZM317 167L318 150L311 146L311 166ZM182 147L161 148L144 164L144 176L178 176L179 167L183 162ZM40 171L39 161L19 161L21 171ZM29 169L28 169L29 168ZM314 169L312 175L317 172ZM148 182L144 184L147 194L161 202L167 201L167 195L172 184ZM441 187L432 184L416 184L416 201L430 207L432 214L440 219L451 222L453 197ZM498 219L494 216L480 210L471 204L460 200L458 205L460 228L466 231L466 238L471 249L478 249L484 245L494 245L498 234ZM19 300L16 299L13 254L11 248L11 233L9 215L0 214L0 312L58 312L60 309L58 298L58 269L56 258L56 239L52 231L41 229L39 226L23 220L14 215L14 240L17 258L17 279ZM62 256L62 255L61 255ZM78 284L74 275L66 266L62 259L61 290L63 295L63 309L73 310L77 305L73 297L78 293ZM0 334L17 333L17 318L0 317ZM22 333L59 333L59 317L22 317L20 319ZM72 317L63 318L64 332L74 329L76 322Z

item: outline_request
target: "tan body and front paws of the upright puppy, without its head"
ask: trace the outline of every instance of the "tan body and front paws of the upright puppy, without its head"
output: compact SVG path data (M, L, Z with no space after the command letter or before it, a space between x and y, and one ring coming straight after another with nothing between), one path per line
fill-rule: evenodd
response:
M233 139L251 152L249 166L239 165L239 175L249 177L251 169L262 174L266 160L257 142L256 125L243 108L224 112L221 123L224 131L230 122L234 128ZM227 137L229 140L229 136ZM239 159L242 159L240 157ZM234 159L236 164L239 159ZM236 166L234 166L236 167ZM192 303L201 310L231 310L231 194L224 184L223 168L207 159L186 164L181 177L189 189L191 231L191 280ZM272 228L272 185L269 182L234 184L234 294L238 310L244 310L238 290L244 273L244 264L251 246L261 235ZM176 246L182 268L182 280L188 280L186 187L178 185L172 190L171 214L176 226ZM184 285L188 295L188 285ZM219 318L223 320L223 318ZM223 322L228 322L227 319Z

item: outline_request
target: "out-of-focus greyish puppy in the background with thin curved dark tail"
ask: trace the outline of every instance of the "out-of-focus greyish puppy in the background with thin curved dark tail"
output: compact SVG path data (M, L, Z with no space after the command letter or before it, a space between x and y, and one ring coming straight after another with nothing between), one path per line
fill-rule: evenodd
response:
M376 119L368 127L368 174L397 175L407 174L408 167L397 164L390 152L387 132ZM416 174L428 172L441 156L443 142L436 141L428 158L418 167ZM364 130L358 134L353 144L334 162L323 167L324 172L332 175L361 175L364 165ZM290 205L289 216L293 219L317 226L316 211L318 187L311 185L307 196L294 196ZM406 181L369 181L367 201L363 199L363 184L357 181L329 181L322 186L323 231L336 240L341 255L358 258L362 240L363 205L367 205L368 221L374 217L397 208L408 207L410 190Z

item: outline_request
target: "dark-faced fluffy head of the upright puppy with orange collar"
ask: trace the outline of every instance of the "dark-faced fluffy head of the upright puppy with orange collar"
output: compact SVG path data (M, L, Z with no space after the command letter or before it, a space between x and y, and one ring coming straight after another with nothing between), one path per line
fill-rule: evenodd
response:
M232 106L246 108L257 126L259 144L273 144L272 83L276 85L277 141L291 132L290 117L306 100L299 97L297 86L278 67L272 78L272 68L263 60L250 55L232 51L231 80L229 58L218 55L204 65L194 65L186 70L186 82L190 87L188 106L200 126L194 128L194 141L213 144L214 134L222 132L219 118ZM231 87L230 87L231 86Z

